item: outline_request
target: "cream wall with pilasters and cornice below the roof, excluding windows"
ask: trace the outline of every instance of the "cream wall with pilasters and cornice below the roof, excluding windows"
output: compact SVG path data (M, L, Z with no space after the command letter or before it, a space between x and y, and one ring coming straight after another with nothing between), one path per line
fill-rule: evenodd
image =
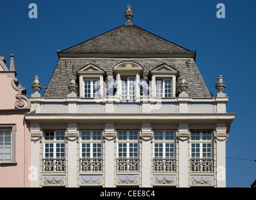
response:
M227 101L225 96L212 99L193 99L188 96L172 98L162 101L164 104L156 113L155 109L150 109L153 103L143 101L135 106L124 104L119 109L115 102L103 101L95 105L83 98L31 98L32 111L26 114L26 120L31 123L33 139L31 165L39 169L39 178L31 181L31 187L225 187L225 146L228 129L234 119L234 114L226 113L223 106ZM91 107L88 106L90 103ZM46 130L65 133L64 171L44 171ZM81 171L81 131L93 130L102 133L102 168L100 171ZM117 133L120 130L138 131L138 170L118 171ZM175 170L154 171L154 131L175 133ZM211 133L212 171L192 171L190 134L193 131ZM56 181L51 182L53 178Z

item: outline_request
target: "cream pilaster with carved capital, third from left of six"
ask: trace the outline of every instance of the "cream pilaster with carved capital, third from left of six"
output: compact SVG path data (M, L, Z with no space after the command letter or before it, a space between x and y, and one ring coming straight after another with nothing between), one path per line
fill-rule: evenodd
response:
M116 131L114 123L106 123L103 133L105 143L105 187L115 187L115 139ZM103 166L104 167L104 166ZM104 168L103 168L104 169Z

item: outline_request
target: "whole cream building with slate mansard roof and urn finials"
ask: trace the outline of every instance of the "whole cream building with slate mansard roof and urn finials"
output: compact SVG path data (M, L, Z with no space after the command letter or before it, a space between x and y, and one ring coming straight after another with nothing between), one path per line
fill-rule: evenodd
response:
M131 21L58 51L45 88L33 83L31 187L225 187L235 114L225 83L209 93L195 51Z

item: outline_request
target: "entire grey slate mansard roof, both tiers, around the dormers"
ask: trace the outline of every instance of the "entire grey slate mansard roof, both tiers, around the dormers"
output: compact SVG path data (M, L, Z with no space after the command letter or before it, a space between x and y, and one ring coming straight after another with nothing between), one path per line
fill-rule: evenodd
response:
M166 41L135 25L123 25L76 46L58 52L59 61L44 93L44 98L66 98L72 75L94 64L113 76L113 67L121 61L134 61L143 67L143 76L165 63L185 75L187 93L192 98L211 95L195 64L195 52ZM180 81L180 79L177 80Z

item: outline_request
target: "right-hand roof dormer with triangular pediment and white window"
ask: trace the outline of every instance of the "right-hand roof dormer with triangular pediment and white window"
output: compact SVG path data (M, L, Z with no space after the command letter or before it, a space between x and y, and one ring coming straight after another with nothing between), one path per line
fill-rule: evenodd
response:
M153 97L155 98L173 98L175 97L177 70L161 64L151 72Z

